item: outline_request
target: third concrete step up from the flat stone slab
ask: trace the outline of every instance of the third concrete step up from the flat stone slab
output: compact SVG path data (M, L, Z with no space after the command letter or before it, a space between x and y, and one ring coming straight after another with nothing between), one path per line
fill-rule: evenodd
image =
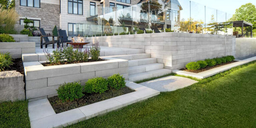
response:
M144 64L153 64L157 62L156 58L144 58L144 59L136 59L136 60L129 60L128 66L138 66L138 65L144 65Z

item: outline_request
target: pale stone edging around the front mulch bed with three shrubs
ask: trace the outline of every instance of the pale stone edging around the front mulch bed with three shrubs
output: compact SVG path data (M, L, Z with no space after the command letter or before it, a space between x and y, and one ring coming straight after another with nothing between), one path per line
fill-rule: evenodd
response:
M135 92L58 114L54 112L48 99L29 102L30 126L31 128L65 127L160 94L159 91L131 81L126 81L126 87L135 90Z

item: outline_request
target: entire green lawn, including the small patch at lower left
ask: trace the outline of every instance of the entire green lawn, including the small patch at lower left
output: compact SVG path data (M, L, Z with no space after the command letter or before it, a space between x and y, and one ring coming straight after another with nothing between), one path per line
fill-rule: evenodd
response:
M198 81L68 128L256 127L256 61ZM27 102L0 103L1 127L29 127Z

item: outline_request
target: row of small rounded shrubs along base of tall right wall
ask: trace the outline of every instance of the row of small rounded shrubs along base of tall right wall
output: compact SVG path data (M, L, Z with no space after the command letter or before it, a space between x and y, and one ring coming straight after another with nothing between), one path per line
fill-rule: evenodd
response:
M221 57L221 58L205 59L204 61L199 60L197 62L188 63L186 65L186 68L188 70L198 70L198 69L205 68L206 66L215 66L217 64L231 62L234 59L235 59L234 56L224 56L224 57Z

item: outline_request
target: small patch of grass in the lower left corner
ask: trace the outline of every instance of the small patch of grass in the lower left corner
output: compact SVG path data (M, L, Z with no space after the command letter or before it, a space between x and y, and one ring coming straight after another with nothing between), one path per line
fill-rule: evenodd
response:
M0 128L29 128L28 101L0 103Z

